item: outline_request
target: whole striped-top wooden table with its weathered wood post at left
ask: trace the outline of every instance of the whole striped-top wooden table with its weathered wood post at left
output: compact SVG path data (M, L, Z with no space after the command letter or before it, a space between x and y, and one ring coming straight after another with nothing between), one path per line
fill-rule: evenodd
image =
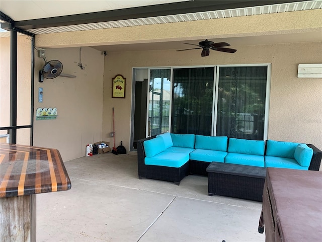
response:
M36 194L66 191L56 149L0 144L0 241L36 241Z

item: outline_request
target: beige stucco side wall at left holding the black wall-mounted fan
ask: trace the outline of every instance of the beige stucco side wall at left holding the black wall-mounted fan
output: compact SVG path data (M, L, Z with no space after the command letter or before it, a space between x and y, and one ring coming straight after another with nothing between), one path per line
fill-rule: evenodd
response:
M38 82L38 71L45 64L35 57L35 111L56 107L57 119L34 121L34 145L56 148L64 161L86 155L86 145L102 139L103 63L100 51L82 48L82 64L77 66L79 48L46 49L47 61L58 59L62 73L76 78L57 77ZM43 88L43 102L38 102L38 88Z

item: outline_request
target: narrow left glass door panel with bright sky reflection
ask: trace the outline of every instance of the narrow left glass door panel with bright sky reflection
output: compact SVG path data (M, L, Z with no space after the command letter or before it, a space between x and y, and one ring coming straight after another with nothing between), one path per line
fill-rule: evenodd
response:
M150 70L147 136L169 131L170 69Z

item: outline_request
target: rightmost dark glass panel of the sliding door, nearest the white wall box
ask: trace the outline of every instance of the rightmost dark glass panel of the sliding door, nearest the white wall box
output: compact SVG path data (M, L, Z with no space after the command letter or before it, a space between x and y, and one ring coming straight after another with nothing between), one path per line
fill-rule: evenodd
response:
M216 136L264 139L267 68L219 67Z

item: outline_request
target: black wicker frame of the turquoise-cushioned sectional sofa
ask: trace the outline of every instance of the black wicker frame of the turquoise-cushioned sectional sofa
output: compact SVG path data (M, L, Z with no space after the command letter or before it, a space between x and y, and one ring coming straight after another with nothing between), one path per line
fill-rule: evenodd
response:
M198 174L198 175L208 175L206 168L210 164L209 162L189 160L186 164L179 168L158 166L158 165L146 165L144 163L145 152L143 147L143 142L155 138L151 136L137 141L137 165L138 165L138 177L151 178L158 180L172 181L177 185L180 185L180 181L187 175ZM309 170L319 170L322 151L316 148L312 144L307 144L308 147L313 149L313 156L309 166ZM266 153L266 150L265 150ZM214 160L215 161L215 160Z

